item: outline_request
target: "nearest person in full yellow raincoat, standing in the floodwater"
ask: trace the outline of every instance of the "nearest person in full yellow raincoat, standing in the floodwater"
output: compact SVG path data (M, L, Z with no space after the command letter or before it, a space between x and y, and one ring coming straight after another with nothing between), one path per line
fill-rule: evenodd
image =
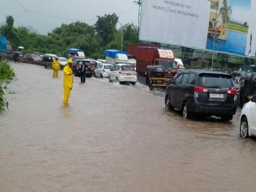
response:
M63 68L63 74L64 74L64 76L63 76L63 88L64 88L63 103L64 104L68 104L69 94L73 87L72 65L73 65L73 60L69 59L68 65L66 65L65 68Z

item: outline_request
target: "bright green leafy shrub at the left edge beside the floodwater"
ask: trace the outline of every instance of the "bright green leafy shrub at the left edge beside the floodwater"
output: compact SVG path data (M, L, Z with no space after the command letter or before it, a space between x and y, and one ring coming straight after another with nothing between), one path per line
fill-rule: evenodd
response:
M8 102L4 98L4 90L2 86L4 83L7 84L10 80L12 80L14 76L15 73L7 60L0 62L0 113L3 112L5 108L8 109Z

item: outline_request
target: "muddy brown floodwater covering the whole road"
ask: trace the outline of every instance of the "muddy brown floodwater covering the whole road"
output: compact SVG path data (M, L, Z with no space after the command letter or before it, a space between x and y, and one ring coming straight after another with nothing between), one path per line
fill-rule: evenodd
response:
M12 63L0 115L0 191L256 191L256 140L230 123L166 112L161 91L58 79Z

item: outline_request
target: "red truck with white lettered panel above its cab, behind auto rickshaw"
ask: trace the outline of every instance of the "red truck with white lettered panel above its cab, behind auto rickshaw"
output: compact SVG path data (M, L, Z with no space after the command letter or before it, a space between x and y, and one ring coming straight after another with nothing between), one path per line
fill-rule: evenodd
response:
M149 65L163 66L165 68L166 81L177 76L177 62L171 49L138 46L136 54L136 70L139 76L146 76L146 68Z

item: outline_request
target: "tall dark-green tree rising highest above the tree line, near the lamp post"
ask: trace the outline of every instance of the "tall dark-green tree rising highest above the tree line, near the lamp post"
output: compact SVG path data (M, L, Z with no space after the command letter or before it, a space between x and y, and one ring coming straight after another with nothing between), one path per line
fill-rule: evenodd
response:
M101 38L102 44L107 44L113 40L116 32L116 24L118 16L113 13L112 15L98 16L98 21L94 26L96 34Z

